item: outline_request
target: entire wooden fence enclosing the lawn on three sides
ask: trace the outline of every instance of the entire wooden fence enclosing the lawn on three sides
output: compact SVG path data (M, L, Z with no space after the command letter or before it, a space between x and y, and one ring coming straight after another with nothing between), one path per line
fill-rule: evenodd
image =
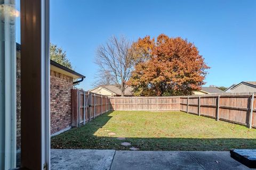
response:
M107 97L79 89L72 89L71 94L73 127L108 111L182 111L256 128L255 94Z

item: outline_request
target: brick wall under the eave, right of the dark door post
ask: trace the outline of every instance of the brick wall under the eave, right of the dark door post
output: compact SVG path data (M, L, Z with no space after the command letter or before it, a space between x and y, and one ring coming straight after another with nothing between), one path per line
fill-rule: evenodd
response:
M51 70L51 134L71 126L73 79Z

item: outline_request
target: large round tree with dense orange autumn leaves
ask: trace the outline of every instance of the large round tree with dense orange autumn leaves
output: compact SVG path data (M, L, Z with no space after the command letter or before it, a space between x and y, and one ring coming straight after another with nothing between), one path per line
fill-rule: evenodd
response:
M194 44L161 34L132 44L134 71L129 80L137 96L191 95L205 84L210 67Z

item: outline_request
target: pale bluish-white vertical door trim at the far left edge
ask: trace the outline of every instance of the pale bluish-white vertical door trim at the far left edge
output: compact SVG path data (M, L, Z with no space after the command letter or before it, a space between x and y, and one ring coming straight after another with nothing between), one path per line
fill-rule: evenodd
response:
M0 2L15 10L14 1ZM0 20L0 169L10 169L16 167L15 16L4 10Z

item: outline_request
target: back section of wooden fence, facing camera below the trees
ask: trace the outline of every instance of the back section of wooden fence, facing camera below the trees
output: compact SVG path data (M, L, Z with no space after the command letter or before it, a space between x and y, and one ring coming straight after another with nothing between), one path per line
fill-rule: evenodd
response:
M179 111L179 97L110 97L112 111Z

